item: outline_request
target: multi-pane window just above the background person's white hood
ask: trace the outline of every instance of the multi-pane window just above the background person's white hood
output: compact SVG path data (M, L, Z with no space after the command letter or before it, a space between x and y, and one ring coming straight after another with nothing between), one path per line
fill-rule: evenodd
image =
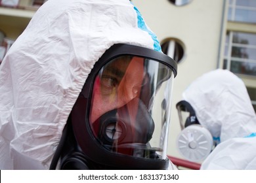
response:
M226 35L223 69L256 76L256 34L229 31Z

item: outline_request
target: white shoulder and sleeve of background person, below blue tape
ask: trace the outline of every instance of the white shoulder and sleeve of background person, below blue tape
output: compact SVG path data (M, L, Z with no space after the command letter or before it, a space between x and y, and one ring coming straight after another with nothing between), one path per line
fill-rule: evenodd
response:
M203 161L201 169L256 169L256 137L234 138L217 145Z

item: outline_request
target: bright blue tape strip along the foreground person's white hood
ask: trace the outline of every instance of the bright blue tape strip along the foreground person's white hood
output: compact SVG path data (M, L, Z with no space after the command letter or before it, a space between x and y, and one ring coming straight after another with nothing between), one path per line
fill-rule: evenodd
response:
M133 3L131 3L133 4ZM154 50L161 52L161 46L160 43L158 41L158 38L156 37L156 34L154 34L152 31L150 31L150 29L148 29L148 27L146 26L142 15L140 14L139 10L137 7L133 6L135 11L137 12L137 19L138 19L138 27L140 29L142 29L143 31L148 32L148 34L152 37L153 41L154 41Z

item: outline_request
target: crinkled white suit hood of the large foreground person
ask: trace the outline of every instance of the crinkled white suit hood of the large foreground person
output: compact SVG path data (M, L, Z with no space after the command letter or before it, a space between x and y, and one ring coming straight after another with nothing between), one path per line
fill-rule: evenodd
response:
M37 10L0 66L0 169L49 169L77 96L110 46L160 47L139 15L129 0L49 0Z

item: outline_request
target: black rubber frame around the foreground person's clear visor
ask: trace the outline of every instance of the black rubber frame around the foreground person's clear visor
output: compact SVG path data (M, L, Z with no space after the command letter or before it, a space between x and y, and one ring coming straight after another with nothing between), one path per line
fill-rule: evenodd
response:
M151 50L149 48L129 44L114 44L111 46L95 63L95 66L89 74L85 85L83 86L83 89L75 102L68 120L70 121L68 123L70 123L72 127L65 127L62 140L60 141L60 145L58 146L56 154L54 155L50 169L56 168L56 164L60 156L62 156L62 160L65 161L70 160L66 158L66 156L72 158L74 166L68 167L68 169L166 169L168 167L168 159L144 159L126 156L124 154L113 154L97 142L97 139L95 139L95 136L91 131L88 114L91 105L90 98L93 91L92 83L95 80L96 73L98 73L102 66L108 63L108 61L123 55L154 59L167 65L173 71L174 76L177 75L177 63L173 59L169 58L169 56L166 56L161 52L156 52L155 50ZM63 156L63 150L65 149L64 146L67 146L68 144L63 142L67 139L67 137L63 137L65 135L74 135L74 139L72 140L72 143L69 143L70 146L73 146L71 152L68 150L68 153ZM77 144L75 144L75 142L77 142ZM76 154L79 154L77 158L75 158L74 150L77 152ZM72 156L70 156L70 154ZM75 159L77 159L77 162L79 163L85 163L85 166L76 165ZM61 162L63 164L63 161ZM98 166L95 167L90 164L96 164Z

